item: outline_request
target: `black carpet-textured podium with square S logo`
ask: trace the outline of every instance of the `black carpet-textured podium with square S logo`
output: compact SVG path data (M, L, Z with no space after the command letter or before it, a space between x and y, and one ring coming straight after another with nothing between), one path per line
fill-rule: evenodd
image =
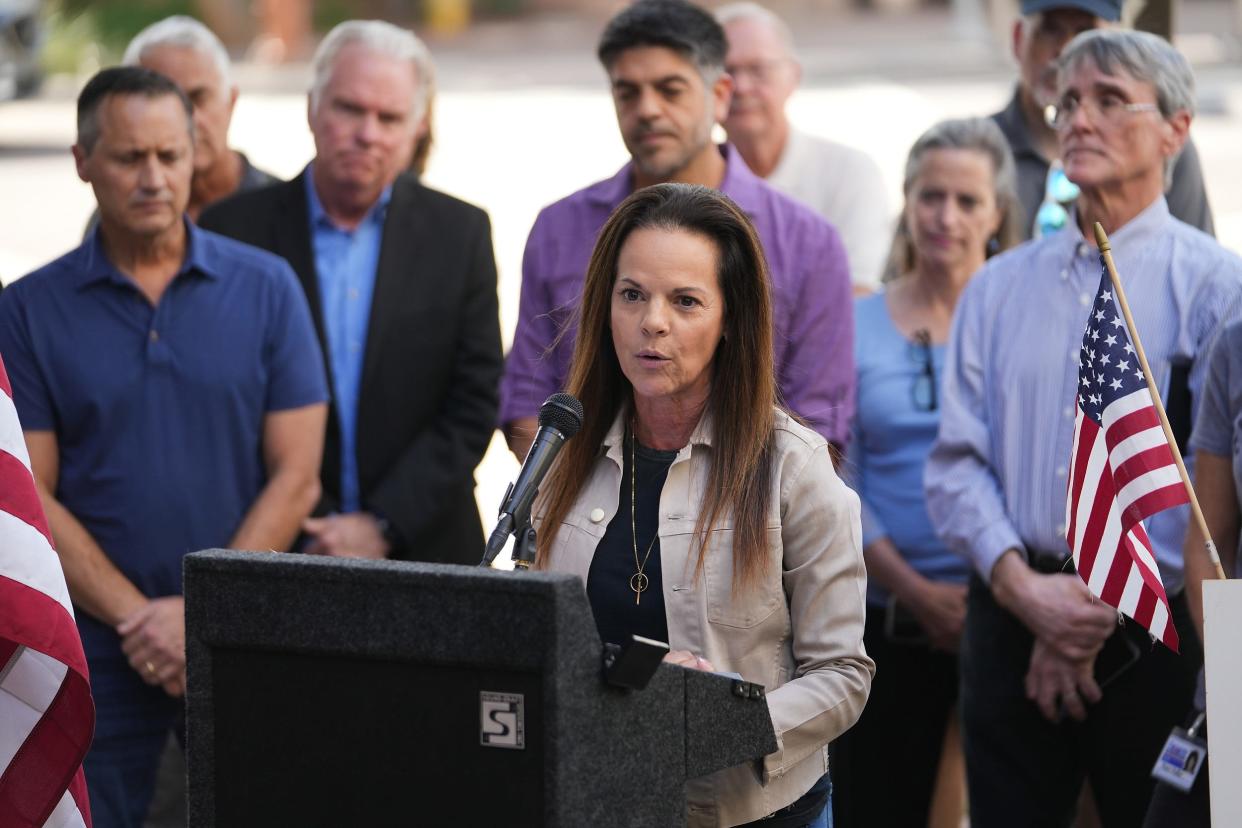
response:
M679 826L776 750L745 683L606 684L569 575L210 550L185 618L194 828Z

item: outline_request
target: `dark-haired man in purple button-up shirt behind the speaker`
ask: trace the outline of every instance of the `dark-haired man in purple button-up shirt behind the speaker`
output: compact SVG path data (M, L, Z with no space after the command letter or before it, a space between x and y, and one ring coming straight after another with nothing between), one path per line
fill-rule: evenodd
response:
M636 189L664 181L715 187L750 217L771 269L777 384L785 403L838 448L853 413L853 304L836 230L712 143L729 108L720 26L684 0L640 0L600 40L631 161L611 179L545 207L522 262L522 305L501 384L501 423L525 454L539 405L565 382L573 312L595 237ZM564 336L560 336L564 329ZM558 339L559 336L559 339Z

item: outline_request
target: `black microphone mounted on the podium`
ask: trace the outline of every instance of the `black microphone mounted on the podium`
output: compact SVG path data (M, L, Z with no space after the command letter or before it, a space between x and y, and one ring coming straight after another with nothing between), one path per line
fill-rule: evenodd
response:
M501 519L487 540L487 550L479 566L491 566L496 556L504 549L505 541L514 531L524 530L530 523L530 506L539 494L551 462L556 459L565 441L582 427L582 403L573 395L554 394L539 408L539 431L530 443L527 459L522 461L518 479L509 484L501 505ZM518 539L519 542L523 539ZM519 560L519 565L520 565ZM529 561L527 561L529 564Z

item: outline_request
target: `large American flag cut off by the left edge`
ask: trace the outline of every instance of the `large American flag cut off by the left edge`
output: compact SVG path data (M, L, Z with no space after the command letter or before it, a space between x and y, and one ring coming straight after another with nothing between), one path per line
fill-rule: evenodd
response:
M89 826L94 704L0 361L0 826Z

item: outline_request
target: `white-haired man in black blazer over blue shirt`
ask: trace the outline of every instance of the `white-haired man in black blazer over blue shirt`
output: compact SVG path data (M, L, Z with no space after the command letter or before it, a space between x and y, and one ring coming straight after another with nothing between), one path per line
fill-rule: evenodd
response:
M476 564L503 359L491 226L402 174L432 84L417 37L349 21L313 68L314 160L200 222L283 256L310 304L333 407L307 551Z

